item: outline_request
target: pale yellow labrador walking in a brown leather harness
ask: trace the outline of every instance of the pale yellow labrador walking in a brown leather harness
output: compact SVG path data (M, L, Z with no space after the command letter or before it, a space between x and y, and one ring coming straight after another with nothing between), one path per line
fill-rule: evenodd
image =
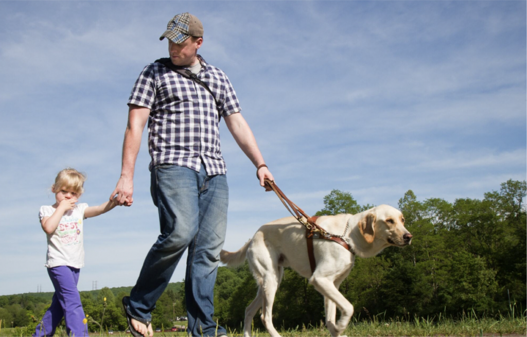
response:
M388 246L402 247L412 242L404 227L403 214L392 206L380 205L358 214L321 216L317 224L328 233L346 237L359 257L371 257ZM261 320L271 335L280 337L272 325L272 304L284 274L291 267L309 279L324 295L326 326L333 337L341 336L353 315L353 305L338 291L355 261L355 254L329 240L314 240L315 272L311 272L306 248L306 229L295 217L285 217L261 226L237 252L221 251L221 262L242 264L245 259L258 284L256 299L245 310L245 337L251 337L251 322L261 308ZM336 322L336 307L341 312ZM343 336L345 337L345 336Z

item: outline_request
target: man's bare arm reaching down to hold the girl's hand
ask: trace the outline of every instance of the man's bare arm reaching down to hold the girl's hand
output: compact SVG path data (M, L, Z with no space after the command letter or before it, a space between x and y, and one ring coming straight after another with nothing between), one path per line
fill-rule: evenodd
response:
M130 104L128 110L128 124L124 132L123 157L121 166L121 177L110 196L110 200L117 194L116 202L119 205L129 205L133 194L133 173L135 160L141 147L141 137L144 126L147 124L150 109ZM128 199L128 202L126 201Z

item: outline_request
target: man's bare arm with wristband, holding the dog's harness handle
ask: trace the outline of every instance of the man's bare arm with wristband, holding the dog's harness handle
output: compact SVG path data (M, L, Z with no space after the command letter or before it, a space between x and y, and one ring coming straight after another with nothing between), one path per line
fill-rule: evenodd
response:
M251 160L252 164L256 167L265 164L264 157L262 157L258 149L258 144L256 144L255 136L252 134L251 128L245 118L240 113L233 113L225 117L225 123L236 140L236 143L238 143L243 153ZM261 167L257 175L261 186L264 186L264 179L274 180L267 167Z

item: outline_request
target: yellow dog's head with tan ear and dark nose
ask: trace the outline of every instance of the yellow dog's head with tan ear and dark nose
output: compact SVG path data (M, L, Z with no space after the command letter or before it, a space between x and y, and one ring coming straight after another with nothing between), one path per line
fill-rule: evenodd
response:
M412 242L412 234L404 227L403 213L392 206L380 205L366 211L358 226L367 243L383 240L402 247Z

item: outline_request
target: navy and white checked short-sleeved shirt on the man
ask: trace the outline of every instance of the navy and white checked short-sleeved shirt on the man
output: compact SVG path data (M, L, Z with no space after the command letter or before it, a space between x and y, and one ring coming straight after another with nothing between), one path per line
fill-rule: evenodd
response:
M225 174L221 155L221 116L240 112L240 104L227 75L198 55L198 78L207 83L219 106L202 85L171 71L160 63L144 67L135 82L128 104L150 109L148 147L150 170L159 164L174 164L208 175Z

